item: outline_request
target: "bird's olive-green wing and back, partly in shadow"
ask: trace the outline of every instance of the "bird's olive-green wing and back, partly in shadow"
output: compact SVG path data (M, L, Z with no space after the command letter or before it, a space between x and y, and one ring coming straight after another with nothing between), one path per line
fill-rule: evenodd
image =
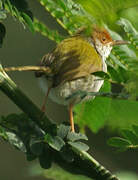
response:
M102 60L94 47L82 37L62 41L55 49L54 84L71 81L102 71Z

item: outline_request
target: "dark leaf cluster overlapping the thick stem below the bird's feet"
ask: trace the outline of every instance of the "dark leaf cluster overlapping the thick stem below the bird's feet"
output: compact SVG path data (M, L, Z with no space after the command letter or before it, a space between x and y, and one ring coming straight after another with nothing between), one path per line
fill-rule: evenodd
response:
M84 134L70 132L70 127L50 126L50 132L42 131L26 114L10 114L0 119L0 136L26 154L27 160L39 159L41 167L51 167L55 152L65 161L73 161L70 149L87 151L88 146L80 140L87 140ZM45 157L45 158L44 158Z

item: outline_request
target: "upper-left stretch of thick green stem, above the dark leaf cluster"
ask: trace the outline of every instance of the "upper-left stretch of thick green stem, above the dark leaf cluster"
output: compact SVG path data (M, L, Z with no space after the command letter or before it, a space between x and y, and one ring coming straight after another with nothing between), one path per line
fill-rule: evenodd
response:
M42 114L42 111L17 87L4 71L0 72L0 89L40 128L44 129L44 124L51 125L51 122Z

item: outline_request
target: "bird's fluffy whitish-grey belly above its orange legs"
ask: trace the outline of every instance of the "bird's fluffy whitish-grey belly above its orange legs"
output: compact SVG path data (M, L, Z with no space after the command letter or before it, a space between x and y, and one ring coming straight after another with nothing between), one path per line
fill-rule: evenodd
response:
M85 96L85 98L82 99L80 97L79 91L98 92L104 82L103 80L99 79L99 77L89 75L85 78L65 82L55 88L52 88L49 93L49 98L52 101L62 105L68 105L71 102L77 104L81 101L94 98L92 96ZM47 91L49 83L50 82L47 79L41 78L40 85L45 93Z

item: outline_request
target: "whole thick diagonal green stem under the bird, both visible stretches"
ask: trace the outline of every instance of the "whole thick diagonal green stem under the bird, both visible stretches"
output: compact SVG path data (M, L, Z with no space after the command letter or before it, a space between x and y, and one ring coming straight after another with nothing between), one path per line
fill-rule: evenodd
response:
M46 128L52 123L43 115L39 108L17 87L17 85L7 76L1 67L0 71L0 90L6 94L28 117L41 127L46 132ZM68 162L61 156L62 152L55 151L54 161L74 173L80 173L96 180L119 180L112 175L106 168L101 166L92 156L87 152L81 151L77 148L70 148L74 154L74 161ZM47 152L46 152L47 153Z

